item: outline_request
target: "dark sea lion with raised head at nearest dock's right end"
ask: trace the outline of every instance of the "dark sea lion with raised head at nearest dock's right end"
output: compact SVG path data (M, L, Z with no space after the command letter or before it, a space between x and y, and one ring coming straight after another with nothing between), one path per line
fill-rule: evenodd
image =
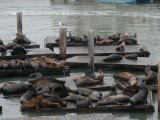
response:
M129 101L131 104L146 104L147 103L148 90L145 85L139 87L137 94L133 95Z

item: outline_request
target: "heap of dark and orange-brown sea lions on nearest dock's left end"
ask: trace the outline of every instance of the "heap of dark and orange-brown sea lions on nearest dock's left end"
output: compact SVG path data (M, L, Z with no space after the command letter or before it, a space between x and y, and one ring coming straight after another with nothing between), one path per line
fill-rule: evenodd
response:
M66 102L62 98L68 95L64 83L51 81L40 73L33 73L28 78L28 89L20 97L22 109L60 108Z

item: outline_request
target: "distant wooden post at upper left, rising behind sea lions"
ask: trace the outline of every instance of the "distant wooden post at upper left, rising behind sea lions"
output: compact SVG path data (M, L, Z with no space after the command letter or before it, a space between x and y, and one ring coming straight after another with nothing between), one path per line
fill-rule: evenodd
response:
M22 12L17 13L17 34L22 34Z

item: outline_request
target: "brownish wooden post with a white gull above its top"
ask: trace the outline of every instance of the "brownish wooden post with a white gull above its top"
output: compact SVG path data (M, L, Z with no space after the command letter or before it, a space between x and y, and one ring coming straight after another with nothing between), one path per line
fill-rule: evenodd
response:
M66 48L67 48L67 28L60 28L59 31L59 51L60 51L60 58L65 59L66 55Z

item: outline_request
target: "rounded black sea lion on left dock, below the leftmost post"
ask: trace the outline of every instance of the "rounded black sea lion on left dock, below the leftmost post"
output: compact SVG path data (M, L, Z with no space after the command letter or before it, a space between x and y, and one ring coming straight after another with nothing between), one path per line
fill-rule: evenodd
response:
M26 49L20 45L14 46L13 50L11 51L11 55L25 55L25 54L27 54Z

